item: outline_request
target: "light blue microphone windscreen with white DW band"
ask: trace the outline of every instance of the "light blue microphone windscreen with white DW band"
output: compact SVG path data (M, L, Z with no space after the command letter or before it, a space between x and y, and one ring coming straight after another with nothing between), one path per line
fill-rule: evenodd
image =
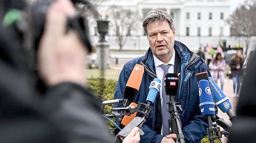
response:
M154 103L157 92L159 92L161 87L161 80L158 78L154 78L153 82L150 83L149 92L146 101L150 101Z

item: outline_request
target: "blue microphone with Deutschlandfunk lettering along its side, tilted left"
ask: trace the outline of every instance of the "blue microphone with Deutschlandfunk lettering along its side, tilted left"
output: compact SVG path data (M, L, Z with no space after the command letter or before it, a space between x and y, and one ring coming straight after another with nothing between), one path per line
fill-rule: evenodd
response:
M209 82L211 84L215 105L218 106L222 112L227 113L229 120L233 123L236 117L230 111L232 109L232 106L228 97L226 97L226 95L223 93L223 91L219 88L217 83L211 77L209 77Z

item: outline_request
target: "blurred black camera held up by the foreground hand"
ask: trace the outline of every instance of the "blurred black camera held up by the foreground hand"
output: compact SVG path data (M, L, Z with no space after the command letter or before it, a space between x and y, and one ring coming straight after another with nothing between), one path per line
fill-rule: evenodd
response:
M40 38L43 34L45 25L45 15L49 6L54 0L37 0L32 2L27 12L27 36L29 47L38 49ZM91 9L94 9L92 4L86 0L72 0L75 6L84 4ZM91 44L89 41L88 22L86 17L82 17L81 13L77 10L75 17L68 18L66 32L70 29L75 30L84 44L87 46L89 52L91 52Z

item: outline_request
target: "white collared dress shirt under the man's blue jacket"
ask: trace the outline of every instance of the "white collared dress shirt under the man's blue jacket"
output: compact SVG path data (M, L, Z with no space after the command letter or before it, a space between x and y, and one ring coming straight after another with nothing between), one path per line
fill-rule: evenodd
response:
M162 85L162 80L163 80L163 69L160 67L160 65L165 64L162 61L160 61L159 59L157 59L156 56L153 55L154 58L154 63L155 63L155 68L156 68L156 76L157 78L159 78L161 80L161 85ZM170 59L170 61L167 64L170 64L171 66L168 69L168 73L174 73L174 62L175 62L175 50L173 50L173 55ZM165 64L166 65L166 64ZM163 104L163 98L162 98L162 87L160 88L160 99L161 99L161 108L162 108L162 104ZM162 109L163 110L163 109ZM163 126L161 129L161 134L163 132Z

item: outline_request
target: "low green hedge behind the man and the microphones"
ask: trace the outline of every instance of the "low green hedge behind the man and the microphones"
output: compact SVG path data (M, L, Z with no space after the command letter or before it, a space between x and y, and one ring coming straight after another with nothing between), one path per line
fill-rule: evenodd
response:
M114 92L115 92L115 88L116 88L116 84L117 84L117 80L113 80L113 79L105 79L104 80L104 85L102 85L101 83L101 80L103 79L100 79L100 78L94 78L94 77L91 77L91 78L88 78L88 86L90 89L92 89L92 91L95 93L95 95L97 96L101 96L100 95L100 90L103 89L103 96L102 99L104 100L112 100L113 97L114 97ZM106 105L104 107L104 113L105 114L110 114L111 113L111 109L113 108L113 105L110 104L110 105ZM112 119L114 121L114 119ZM110 122L108 121L108 125L109 127L111 128L114 128L115 126ZM208 141L208 136L205 136L203 139L202 139L202 143L210 143ZM215 143L220 143L218 139L215 140Z

